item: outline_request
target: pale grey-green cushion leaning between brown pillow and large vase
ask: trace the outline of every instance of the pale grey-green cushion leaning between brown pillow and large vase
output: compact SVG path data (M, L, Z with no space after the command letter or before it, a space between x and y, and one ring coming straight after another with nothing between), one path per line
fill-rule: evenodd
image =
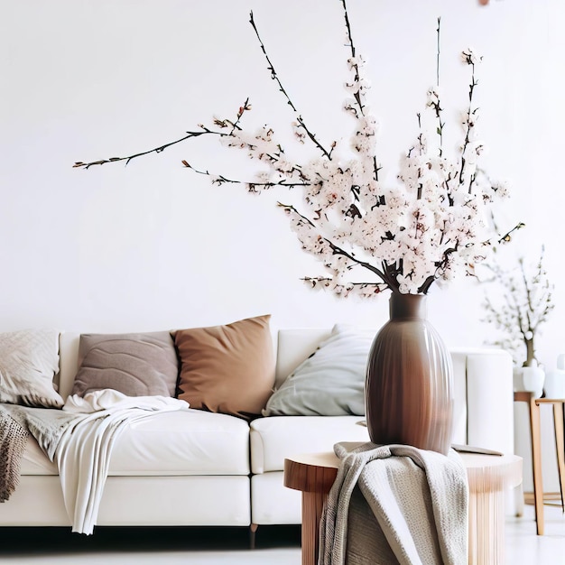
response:
M374 338L374 330L336 324L274 391L264 416L364 415L366 360Z

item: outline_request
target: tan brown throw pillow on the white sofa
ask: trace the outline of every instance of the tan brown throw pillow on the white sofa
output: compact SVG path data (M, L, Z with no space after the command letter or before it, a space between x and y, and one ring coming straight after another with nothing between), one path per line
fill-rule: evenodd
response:
M260 415L274 385L270 318L173 332L181 359L178 397L209 412Z

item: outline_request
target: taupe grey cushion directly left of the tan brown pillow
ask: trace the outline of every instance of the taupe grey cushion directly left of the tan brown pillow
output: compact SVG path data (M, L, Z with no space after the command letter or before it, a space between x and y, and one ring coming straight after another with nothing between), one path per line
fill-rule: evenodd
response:
M127 396L174 396L178 371L168 331L82 334L71 394L112 388Z

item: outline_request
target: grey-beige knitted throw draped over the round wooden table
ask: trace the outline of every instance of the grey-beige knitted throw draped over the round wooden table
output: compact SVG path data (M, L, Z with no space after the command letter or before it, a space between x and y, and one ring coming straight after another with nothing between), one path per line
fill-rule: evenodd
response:
M320 523L319 565L467 565L468 478L448 457L406 445L342 442Z

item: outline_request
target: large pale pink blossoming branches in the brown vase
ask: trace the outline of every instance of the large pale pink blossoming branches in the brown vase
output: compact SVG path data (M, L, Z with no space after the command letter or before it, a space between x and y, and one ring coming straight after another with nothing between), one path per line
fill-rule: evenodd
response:
M479 165L484 144L477 134L475 105L476 69L481 60L474 51L462 52L470 71L468 105L461 117L461 140L456 155L444 148L444 117L440 89L440 20L438 20L437 84L430 88L424 114L418 114L419 134L403 154L395 180L386 179L376 153L378 120L368 111L369 82L365 60L357 53L347 14L346 0L339 0L347 30L346 82L348 96L343 109L352 117L348 139L324 144L295 107L282 84L255 24L250 23L267 61L268 70L294 114L292 129L297 143L308 144L314 156L292 162L273 128L264 125L249 132L243 125L251 110L249 100L235 118L215 118L180 139L147 152L124 158L76 162L75 167L125 161L148 153L161 153L172 144L202 135L218 137L221 144L244 151L260 163L255 179L241 181L200 170L189 161L185 167L210 177L218 185L245 184L259 193L286 187L302 191L300 209L279 203L304 251L316 256L326 273L304 280L338 296L373 297L388 289L400 293L427 293L435 281L449 282L461 273L473 273L493 243L510 238L493 231L486 218L497 200L508 196L505 183L491 182ZM430 123L431 135L426 132ZM305 153L305 152L301 152ZM384 177L384 178L383 178Z

